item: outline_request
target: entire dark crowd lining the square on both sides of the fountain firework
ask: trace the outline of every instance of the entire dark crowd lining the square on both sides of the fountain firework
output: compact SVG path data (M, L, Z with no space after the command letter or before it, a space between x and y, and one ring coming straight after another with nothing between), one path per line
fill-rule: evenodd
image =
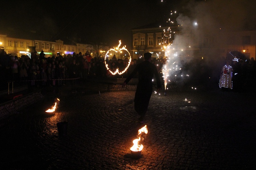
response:
M89 53L60 55L45 57L43 51L38 54L36 51L21 57L6 54L1 51L0 55L0 80L1 89L8 87L8 82L14 82L15 86L28 84L29 87L41 86L61 86L74 85L77 79L86 81L88 79L105 79L105 78L126 78L134 69L136 64L143 61L143 57L133 59L123 74L111 74L105 66L104 58L91 57ZM162 77L162 66L166 60L163 58L152 58L152 63L157 66L160 77ZM128 63L129 58L120 59L115 56L106 59L109 69L112 72L118 68L123 71ZM204 84L215 83L218 86L219 76L226 59L217 61L190 60L180 61L181 69L172 73L169 77L171 83L181 84ZM254 58L237 61L231 61L233 73L236 76L236 82L246 84L247 80L256 79L256 63ZM189 76L188 76L189 75ZM187 77L186 77L187 76ZM242 85L241 85L242 86ZM243 88L243 87L241 87Z

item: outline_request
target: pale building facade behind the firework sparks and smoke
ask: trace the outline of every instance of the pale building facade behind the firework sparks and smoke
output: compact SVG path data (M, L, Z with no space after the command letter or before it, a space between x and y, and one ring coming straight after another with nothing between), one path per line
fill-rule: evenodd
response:
M247 58L256 55L256 31L211 32L197 34L193 30L180 31L178 26L160 27L159 23L134 28L132 32L132 58L139 58L145 52L152 57L165 57L165 48L173 39L165 38L165 31L175 32L172 52L182 60L193 58L221 58L229 52L238 51Z

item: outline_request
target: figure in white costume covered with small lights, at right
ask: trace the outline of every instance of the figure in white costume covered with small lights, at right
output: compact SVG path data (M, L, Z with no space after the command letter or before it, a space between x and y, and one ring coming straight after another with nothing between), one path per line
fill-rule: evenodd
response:
M221 78L219 80L219 88L230 88L232 89L232 66L229 65L229 62L223 66L221 71Z

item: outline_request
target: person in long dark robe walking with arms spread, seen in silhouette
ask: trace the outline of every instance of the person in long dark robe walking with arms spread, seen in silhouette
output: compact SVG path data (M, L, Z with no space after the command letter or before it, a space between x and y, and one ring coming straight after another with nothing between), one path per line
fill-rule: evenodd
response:
M122 85L122 87L125 87L131 78L133 78L133 76L138 72L139 82L134 97L134 109L140 115L139 121L141 123L143 123L143 119L147 112L147 107L153 92L152 79L154 75L157 81L157 89L161 89L160 77L156 66L151 63L151 56L152 54L149 52L144 53L145 61L136 65L134 70Z

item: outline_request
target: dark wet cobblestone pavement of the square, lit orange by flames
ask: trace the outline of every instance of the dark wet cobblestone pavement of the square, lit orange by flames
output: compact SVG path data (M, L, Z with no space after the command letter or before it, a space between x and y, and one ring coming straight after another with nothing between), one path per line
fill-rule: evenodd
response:
M0 129L1 169L254 169L255 94L220 90L153 94L144 123L135 91L59 93L54 115L46 97ZM187 100L186 100L187 99ZM59 136L58 122L68 122ZM129 148L144 125L139 157Z

